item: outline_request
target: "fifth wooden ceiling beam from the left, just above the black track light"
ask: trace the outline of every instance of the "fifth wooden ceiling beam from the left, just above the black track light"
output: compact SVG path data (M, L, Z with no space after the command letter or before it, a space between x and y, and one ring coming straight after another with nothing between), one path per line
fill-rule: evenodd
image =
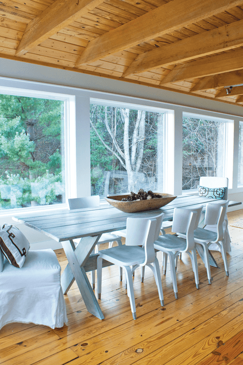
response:
M221 88L222 86L237 85L243 83L243 70L219 73L217 75L202 78L191 91Z

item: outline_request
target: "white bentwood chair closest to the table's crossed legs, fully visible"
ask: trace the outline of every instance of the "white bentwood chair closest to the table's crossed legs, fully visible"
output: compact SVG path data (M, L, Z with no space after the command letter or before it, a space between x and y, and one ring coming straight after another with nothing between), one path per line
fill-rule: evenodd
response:
M132 274L139 266L146 265L153 271L160 303L161 306L164 305L159 263L154 249L154 241L159 236L162 219L163 213L153 218L127 218L125 245L101 250L97 258L98 298L101 298L103 259L122 266L126 274L127 295L130 299L134 319L137 318L137 315Z

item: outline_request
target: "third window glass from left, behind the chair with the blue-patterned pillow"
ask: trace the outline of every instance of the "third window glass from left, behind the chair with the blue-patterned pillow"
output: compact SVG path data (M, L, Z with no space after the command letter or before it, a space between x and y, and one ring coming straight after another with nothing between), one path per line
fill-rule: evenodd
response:
M201 176L223 172L225 123L183 117L182 189L196 189Z

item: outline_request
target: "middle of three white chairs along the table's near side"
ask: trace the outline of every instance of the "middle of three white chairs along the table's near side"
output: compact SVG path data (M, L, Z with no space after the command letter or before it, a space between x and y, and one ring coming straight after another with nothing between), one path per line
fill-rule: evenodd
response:
M196 288L199 289L196 248L194 243L194 229L198 226L203 206L194 209L174 208L172 232L185 233L186 239L175 235L161 235L155 241L154 246L163 252L164 274L166 274L167 257L170 259L171 277L173 281L174 296L178 298L175 264L177 256L185 252L191 258L192 269L195 276Z

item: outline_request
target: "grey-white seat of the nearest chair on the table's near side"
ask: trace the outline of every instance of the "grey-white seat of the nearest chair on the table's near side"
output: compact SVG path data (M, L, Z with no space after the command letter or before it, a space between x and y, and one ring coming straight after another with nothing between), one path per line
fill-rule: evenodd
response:
M144 262L145 252L142 247L139 246L115 246L108 248L106 250L99 251L104 259L117 265L132 266L139 265L139 263Z

